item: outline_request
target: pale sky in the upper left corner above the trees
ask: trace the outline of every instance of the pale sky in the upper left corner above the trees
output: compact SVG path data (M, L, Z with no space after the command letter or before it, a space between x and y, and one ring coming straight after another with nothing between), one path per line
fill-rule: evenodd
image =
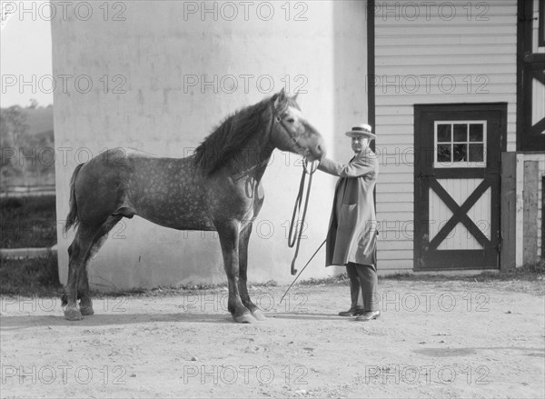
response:
M26 106L31 98L38 105L53 104L51 23L46 20L44 7L47 2L25 2L30 10L26 12L20 9L23 2L2 1L3 6L8 3L17 9L6 20L3 16L0 31L0 106Z

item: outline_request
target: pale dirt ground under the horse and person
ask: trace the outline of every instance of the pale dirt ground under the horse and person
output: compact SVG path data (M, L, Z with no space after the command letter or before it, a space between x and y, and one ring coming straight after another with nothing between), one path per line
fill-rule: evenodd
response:
M545 396L543 280L381 280L381 318L336 316L344 284L255 287L268 319L234 324L224 289L94 300L3 297L1 397Z

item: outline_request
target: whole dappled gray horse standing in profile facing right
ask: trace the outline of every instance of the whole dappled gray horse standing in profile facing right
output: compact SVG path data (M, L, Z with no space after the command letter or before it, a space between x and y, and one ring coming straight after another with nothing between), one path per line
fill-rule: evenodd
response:
M162 158L116 148L77 165L66 218L66 230L77 230L68 248L64 316L94 314L87 264L114 225L137 214L177 230L217 231L233 319L263 320L248 294L246 270L252 224L264 198L261 179L274 148L309 161L325 155L322 136L283 89L229 116L192 156Z

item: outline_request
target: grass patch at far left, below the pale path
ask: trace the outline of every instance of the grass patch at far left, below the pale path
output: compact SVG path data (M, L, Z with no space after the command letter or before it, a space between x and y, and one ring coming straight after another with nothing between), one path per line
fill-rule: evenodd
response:
M56 254L32 259L0 257L0 294L57 296L61 291Z

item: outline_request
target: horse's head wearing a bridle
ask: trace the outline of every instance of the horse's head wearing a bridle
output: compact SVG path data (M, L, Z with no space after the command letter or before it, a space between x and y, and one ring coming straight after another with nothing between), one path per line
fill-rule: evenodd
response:
M284 89L272 97L272 143L282 151L303 155L308 161L325 156L322 135L305 119L295 98Z

